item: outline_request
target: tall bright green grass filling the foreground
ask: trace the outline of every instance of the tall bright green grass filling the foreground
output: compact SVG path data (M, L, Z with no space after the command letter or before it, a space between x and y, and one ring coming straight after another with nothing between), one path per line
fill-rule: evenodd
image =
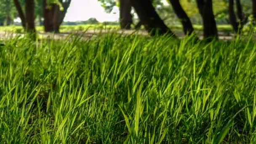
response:
M1 143L256 141L256 45L247 38L4 42Z

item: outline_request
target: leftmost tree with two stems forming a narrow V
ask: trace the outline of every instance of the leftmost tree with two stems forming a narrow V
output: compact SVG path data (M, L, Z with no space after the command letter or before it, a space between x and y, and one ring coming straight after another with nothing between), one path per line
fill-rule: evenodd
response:
M13 0L14 5L19 13L22 26L27 32L35 32L35 3L34 0L25 0L25 14L21 8L19 0Z

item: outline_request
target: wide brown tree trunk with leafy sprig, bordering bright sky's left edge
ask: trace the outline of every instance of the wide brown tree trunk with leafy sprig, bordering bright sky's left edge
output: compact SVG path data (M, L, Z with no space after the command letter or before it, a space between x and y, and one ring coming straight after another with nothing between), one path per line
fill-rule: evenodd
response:
M71 0L59 0L57 2L49 4L47 0L43 0L43 25L45 32L59 33L60 25L64 20Z

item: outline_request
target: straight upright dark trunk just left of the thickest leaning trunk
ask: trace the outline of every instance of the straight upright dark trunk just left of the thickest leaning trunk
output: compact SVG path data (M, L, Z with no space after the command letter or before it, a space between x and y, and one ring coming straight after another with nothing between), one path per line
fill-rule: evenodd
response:
M131 3L129 0L120 0L120 26L121 29L131 29L133 16L131 15Z

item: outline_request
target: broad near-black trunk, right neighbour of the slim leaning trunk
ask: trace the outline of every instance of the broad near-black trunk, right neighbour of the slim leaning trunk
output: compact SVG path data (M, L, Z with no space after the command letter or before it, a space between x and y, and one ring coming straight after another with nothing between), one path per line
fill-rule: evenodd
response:
M197 7L203 19L204 38L218 39L218 30L214 19L212 0L197 0Z

